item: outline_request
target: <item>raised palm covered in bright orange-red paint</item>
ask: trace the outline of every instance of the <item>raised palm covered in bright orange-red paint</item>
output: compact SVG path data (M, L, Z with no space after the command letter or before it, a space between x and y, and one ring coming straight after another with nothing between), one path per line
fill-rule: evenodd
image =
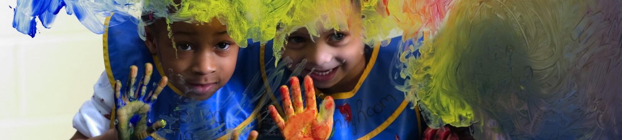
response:
M298 78L290 78L292 86L292 96L294 106L289 98L289 89L286 85L281 86L281 96L283 98L283 110L285 118L277 113L274 106L269 106L268 110L277 124L285 139L328 139L333 129L333 113L335 113L335 101L331 96L327 96L320 105L320 112L315 105L315 88L313 80L309 75L305 77L305 102L307 108L302 107L302 96L300 95L300 83ZM285 121L284 121L285 119Z

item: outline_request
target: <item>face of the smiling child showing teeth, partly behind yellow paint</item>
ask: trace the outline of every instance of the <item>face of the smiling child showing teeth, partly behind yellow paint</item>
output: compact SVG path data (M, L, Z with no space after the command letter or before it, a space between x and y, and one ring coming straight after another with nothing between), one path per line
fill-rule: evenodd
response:
M307 75L314 68L309 75L317 88L331 88L345 81L358 80L356 77L365 66L360 35L348 30L323 30L320 37L313 40L306 28L296 30L287 38L284 57L289 56L294 63L307 59L300 75Z

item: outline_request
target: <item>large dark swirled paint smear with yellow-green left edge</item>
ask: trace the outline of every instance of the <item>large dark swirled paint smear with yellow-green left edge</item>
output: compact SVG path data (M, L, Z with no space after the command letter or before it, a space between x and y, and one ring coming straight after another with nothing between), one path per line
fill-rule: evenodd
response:
M430 126L473 124L480 139L622 136L621 1L454 2L401 57L411 83L398 87Z

